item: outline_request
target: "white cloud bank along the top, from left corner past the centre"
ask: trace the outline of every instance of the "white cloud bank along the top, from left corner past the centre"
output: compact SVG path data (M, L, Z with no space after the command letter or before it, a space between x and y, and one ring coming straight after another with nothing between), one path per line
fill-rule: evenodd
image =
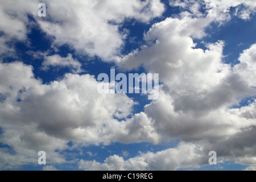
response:
M75 2L75 3L73 3ZM47 16L38 16L39 1L2 1L0 15L1 52L14 51L5 45L11 40L26 40L28 14L34 17L48 35L53 36L52 47L68 44L83 55L113 59L123 46L126 32L118 27L125 19L147 23L161 16L164 5L159 0L146 1L44 1ZM13 26L15 24L15 26ZM29 27L29 26L28 26Z

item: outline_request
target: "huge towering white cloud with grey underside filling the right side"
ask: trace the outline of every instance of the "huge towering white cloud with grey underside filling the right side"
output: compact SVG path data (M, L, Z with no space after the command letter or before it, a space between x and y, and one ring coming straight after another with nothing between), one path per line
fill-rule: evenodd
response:
M206 50L195 48L192 38L204 35L209 20L185 16L156 23L144 36L147 44L118 59L118 65L160 73L159 99L144 110L159 140L197 143L205 152L215 150L247 165L245 159L256 155L255 101L231 108L256 95L255 45L241 54L235 67L222 62L221 40L207 44Z

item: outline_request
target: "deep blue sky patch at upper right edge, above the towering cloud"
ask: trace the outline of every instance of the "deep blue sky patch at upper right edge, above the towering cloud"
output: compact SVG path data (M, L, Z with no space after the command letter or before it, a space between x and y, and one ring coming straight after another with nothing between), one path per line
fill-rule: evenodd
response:
M212 23L205 30L208 35L203 39L194 39L194 42L197 43L196 48L205 50L207 49L205 43L223 40L225 42L224 63L233 66L240 63L238 58L243 50L256 43L256 15L252 16L250 20L243 20L232 14L231 16L232 19L221 26Z

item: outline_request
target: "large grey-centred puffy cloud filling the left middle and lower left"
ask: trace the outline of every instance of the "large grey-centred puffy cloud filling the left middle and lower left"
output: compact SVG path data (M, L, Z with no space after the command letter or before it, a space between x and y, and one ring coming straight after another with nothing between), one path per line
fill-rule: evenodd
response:
M1 63L0 83L0 142L9 145L1 148L2 154L6 152L0 158L2 169L9 162L13 166L6 168L35 164L41 150L47 152L50 164L63 163L64 156L56 150L67 149L70 140L158 142L145 114L121 122L114 119L128 117L135 102L125 94L98 94L98 82L90 75L67 74L44 85L34 78L31 66Z

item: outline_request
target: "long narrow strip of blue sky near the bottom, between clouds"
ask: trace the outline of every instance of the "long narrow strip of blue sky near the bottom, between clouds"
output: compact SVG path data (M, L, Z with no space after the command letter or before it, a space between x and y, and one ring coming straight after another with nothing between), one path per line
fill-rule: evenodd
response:
M109 156L118 155L123 157L124 160L134 158L140 154L146 154L147 152L159 152L167 150L168 148L176 148L180 143L180 140L174 140L171 143L160 143L152 144L147 142L142 143L112 143L109 145L100 144L98 146L80 146L73 148L72 150L56 151L59 154L64 155L65 159L69 162L74 162L75 160L96 160L97 162L104 163L104 160L109 158ZM72 147L73 143L69 142L68 146Z

